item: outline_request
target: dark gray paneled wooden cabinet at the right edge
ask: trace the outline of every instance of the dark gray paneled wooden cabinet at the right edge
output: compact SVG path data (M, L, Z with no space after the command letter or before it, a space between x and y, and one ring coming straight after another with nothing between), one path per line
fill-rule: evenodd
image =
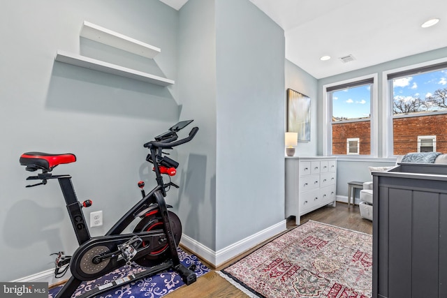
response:
M373 172L373 297L447 297L447 165Z

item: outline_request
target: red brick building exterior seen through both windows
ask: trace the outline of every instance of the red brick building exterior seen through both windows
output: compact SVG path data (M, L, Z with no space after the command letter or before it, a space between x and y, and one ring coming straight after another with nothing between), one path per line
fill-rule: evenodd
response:
M393 119L394 154L418 151L418 136L436 135L436 151L447 152L447 114L430 114ZM360 154L371 152L370 122L332 124L332 154L346 154L346 140L360 139Z

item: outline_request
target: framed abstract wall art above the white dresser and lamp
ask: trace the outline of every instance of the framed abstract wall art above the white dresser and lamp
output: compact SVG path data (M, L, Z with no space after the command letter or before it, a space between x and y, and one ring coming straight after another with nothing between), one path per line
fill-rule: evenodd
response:
M298 141L310 141L310 98L287 89L287 131L298 133Z

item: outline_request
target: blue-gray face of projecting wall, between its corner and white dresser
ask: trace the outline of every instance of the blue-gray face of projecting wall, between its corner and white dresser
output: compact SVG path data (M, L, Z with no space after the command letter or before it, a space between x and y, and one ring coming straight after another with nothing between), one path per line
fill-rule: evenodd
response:
M285 50L253 3L215 2L218 251L284 220Z

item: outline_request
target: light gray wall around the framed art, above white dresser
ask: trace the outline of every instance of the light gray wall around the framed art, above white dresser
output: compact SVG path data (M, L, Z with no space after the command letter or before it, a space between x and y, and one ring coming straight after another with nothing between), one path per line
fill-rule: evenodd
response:
M310 142L298 142L298 146L295 148L295 156L300 155L316 155L316 149L318 144L318 96L317 96L317 83L315 77L306 73L305 70L296 66L291 61L286 59L285 64L285 74L286 74L286 86L285 89L293 89L295 91L300 92L301 94L305 94L309 96L311 99L310 109L311 109L311 123L310 123ZM287 112L287 94L284 97L284 103L286 105L286 109L284 110L284 114ZM287 124L284 123L284 128L287 127Z

